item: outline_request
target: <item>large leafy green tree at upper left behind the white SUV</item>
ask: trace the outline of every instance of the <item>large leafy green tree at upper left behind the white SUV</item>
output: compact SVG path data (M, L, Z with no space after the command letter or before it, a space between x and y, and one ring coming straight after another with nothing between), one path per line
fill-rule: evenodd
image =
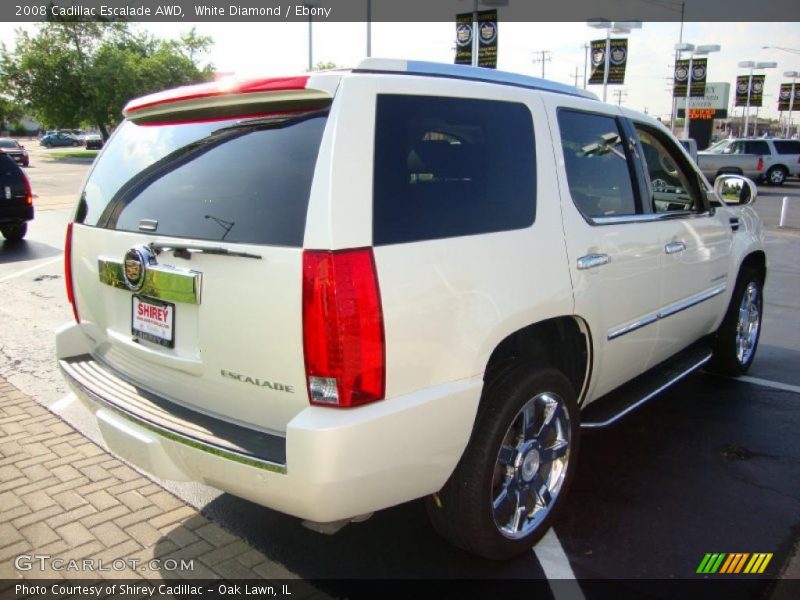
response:
M199 66L211 44L194 29L160 40L128 23L51 21L2 46L0 80L45 126L90 124L106 138L132 98L211 79L213 67Z

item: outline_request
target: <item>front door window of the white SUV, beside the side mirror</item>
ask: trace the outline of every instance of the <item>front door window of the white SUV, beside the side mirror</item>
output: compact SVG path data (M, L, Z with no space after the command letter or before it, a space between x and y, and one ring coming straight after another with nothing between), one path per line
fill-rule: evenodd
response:
M647 166L653 211L687 211L702 207L697 176L682 165L681 154L674 143L662 133L638 124L636 135Z

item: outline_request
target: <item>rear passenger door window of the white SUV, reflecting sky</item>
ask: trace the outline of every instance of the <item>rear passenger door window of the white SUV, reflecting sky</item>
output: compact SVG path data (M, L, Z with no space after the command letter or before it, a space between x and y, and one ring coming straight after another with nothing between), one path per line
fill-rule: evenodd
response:
M583 216L635 214L630 160L617 120L561 109L558 126L569 191Z

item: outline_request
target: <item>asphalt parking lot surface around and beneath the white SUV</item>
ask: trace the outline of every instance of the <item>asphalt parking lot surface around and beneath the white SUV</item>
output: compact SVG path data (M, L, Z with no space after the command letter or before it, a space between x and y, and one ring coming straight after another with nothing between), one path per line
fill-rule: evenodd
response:
M63 228L90 163L28 147L37 216L23 244L0 245L0 376L98 439L56 371L52 336L71 317ZM791 227L779 229L784 196ZM800 539L800 181L761 187L756 208L769 274L748 377L695 374L617 425L585 434L555 535L529 555L491 563L454 550L419 501L323 536L204 486L165 485L302 578L619 579L658 595L664 580L697 577L706 553L765 552L774 553L766 573L742 577L727 597L768 597L776 577L797 569Z

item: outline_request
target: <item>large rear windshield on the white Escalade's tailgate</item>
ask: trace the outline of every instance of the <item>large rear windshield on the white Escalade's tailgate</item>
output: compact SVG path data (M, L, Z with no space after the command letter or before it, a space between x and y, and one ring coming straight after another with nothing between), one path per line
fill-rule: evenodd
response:
M302 246L327 112L302 117L120 126L76 221L209 241Z

